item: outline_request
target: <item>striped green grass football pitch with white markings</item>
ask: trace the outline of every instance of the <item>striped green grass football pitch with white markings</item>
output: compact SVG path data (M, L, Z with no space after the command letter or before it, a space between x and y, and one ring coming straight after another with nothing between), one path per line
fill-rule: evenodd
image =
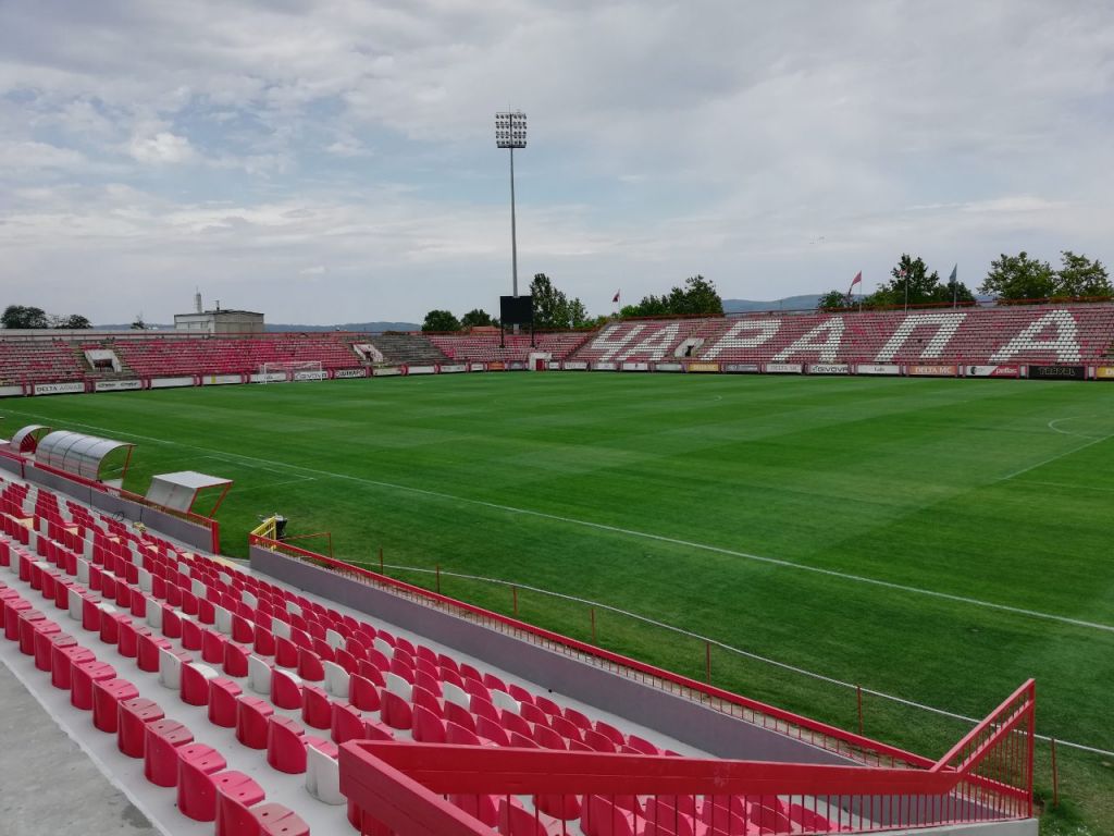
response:
M388 564L567 593L960 715L1033 675L1039 732L1114 749L1114 385L461 375L0 412L4 435L33 421L135 440L140 493L166 470L234 478L219 514L232 555L277 511L293 533L332 532L344 560L378 565L382 547ZM506 587L442 591L511 609ZM519 606L590 638L587 605L522 592ZM607 611L596 631L704 677L695 639ZM858 725L853 691L720 648L712 680ZM927 755L966 730L876 697L863 709L868 735ZM1111 759L1059 754L1062 791L1114 832Z

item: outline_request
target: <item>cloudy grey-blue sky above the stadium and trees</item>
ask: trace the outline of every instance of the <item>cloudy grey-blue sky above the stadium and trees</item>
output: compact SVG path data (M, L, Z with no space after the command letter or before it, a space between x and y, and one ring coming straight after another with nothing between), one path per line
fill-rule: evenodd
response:
M1114 261L1110 0L0 0L0 303L168 321Z

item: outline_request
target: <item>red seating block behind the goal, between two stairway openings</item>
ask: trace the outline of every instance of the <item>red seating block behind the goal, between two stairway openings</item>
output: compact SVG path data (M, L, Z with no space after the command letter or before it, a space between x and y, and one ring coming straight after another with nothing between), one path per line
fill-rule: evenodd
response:
M351 338L331 334L121 339L114 348L120 359L143 377L246 373L258 371L265 362L320 361L326 369L360 364Z

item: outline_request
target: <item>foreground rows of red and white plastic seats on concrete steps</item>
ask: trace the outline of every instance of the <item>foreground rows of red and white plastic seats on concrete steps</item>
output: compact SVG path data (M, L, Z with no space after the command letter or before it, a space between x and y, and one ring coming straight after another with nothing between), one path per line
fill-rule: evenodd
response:
M345 803L336 747L354 738L674 755L46 489L3 483L0 527L6 636L69 691L75 711L116 736L120 757L144 759L147 780L176 793L182 815L215 820L218 836L297 836L307 822L348 830L329 806ZM307 795L289 776L304 776ZM536 822L524 803L550 829L614 833L593 820L592 798L452 800L504 834L535 833L521 829ZM750 834L760 815L794 815L739 803L741 829L723 834ZM665 813L629 804L632 834ZM717 814L711 801L693 805L667 813L703 833ZM358 816L349 810L359 827Z

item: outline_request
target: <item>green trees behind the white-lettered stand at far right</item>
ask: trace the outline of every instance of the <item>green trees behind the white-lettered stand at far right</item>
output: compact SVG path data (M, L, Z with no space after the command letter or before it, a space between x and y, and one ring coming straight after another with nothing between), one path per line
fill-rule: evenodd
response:
M1097 259L1077 255L1071 250L1061 252L1059 268L1047 261L1030 257L1024 250L1017 255L1003 253L990 262L978 292L991 297L999 304L1017 304L1042 299L1108 299L1114 295L1106 268ZM878 290L856 300L850 291L831 290L817 303L820 309L893 308L909 304L949 303L971 304L975 294L951 271L942 281L937 271L928 272L925 260L903 253L890 270L890 279Z

